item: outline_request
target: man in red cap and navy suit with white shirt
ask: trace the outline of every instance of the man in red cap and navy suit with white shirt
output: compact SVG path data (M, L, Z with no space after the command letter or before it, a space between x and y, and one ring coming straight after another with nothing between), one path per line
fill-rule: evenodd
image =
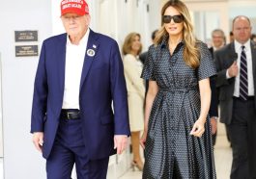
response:
M78 179L103 179L109 156L126 149L130 133L119 47L89 29L84 0L63 0L61 13L67 33L43 41L38 64L33 142L48 179L71 179L74 164Z

